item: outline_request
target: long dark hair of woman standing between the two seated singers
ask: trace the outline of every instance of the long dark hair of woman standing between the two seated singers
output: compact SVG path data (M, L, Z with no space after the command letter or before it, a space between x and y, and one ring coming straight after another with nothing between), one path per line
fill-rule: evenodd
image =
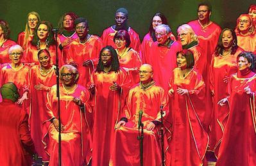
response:
M111 65L111 70L110 71L115 71L115 72L119 71L120 67L119 67L117 52L115 51L115 49L112 46L107 45L106 47L103 47L103 49L101 49L101 52L99 53L99 63L97 65L96 72L103 72L104 65L101 62L101 54L106 49L110 50L111 56L112 56L112 61L111 61L111 64L110 64Z

